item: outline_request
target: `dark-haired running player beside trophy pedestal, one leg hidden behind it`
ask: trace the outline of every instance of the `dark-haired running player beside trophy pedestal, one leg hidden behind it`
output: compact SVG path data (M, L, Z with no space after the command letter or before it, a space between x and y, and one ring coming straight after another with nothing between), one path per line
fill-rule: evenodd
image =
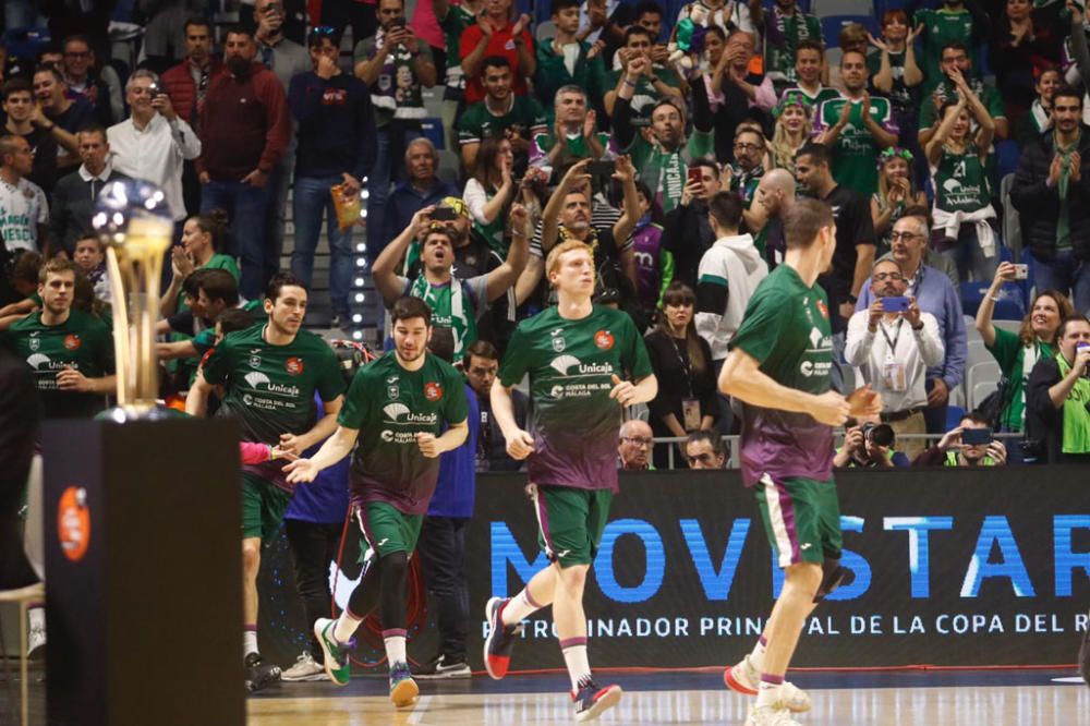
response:
M185 412L203 416L208 396L223 386L217 415L237 416L243 440L299 456L334 433L344 379L332 349L300 329L306 300L299 278L287 273L274 276L265 294L268 320L228 335L207 354L185 399ZM315 391L326 407L320 419ZM242 473L242 654L251 690L280 679L280 669L263 663L257 650L257 572L262 545L272 543L291 500L292 485L282 465L270 460L245 465Z

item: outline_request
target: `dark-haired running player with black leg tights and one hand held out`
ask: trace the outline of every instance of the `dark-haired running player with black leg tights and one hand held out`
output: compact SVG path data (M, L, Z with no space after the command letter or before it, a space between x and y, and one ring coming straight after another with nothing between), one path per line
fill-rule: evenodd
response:
M416 688L405 657L405 576L439 476L439 455L461 446L469 427L465 384L452 365L426 351L432 310L420 298L390 308L395 349L352 379L337 433L311 459L293 461L290 482L311 482L351 451L349 488L370 552L363 579L341 616L319 618L314 634L326 674L348 685L352 636L378 604L390 667L390 701L411 705ZM444 429L446 429L444 432Z

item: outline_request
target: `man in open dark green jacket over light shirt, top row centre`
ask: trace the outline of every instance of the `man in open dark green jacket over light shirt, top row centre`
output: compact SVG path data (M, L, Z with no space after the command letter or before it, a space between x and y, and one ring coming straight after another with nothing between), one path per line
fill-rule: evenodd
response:
M605 41L592 46L579 38L579 0L553 0L550 8L556 36L537 45L537 100L542 106L552 105L565 86L577 86L591 98L602 98L609 88L601 55Z

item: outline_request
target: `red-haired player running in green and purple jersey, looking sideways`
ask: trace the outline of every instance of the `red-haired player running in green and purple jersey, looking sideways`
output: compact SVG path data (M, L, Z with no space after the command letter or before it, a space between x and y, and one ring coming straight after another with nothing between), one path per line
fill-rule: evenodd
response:
M652 400L658 383L632 319L591 304L591 247L568 240L549 252L545 270L559 304L519 324L493 384L492 410L508 453L530 459L529 488L552 565L514 597L488 601L484 661L493 678L507 675L519 624L552 604L576 718L590 721L616 705L621 690L600 688L591 676L583 585L617 491L621 407ZM519 428L511 404L511 388L525 374L533 435ZM628 376L635 383L622 380Z

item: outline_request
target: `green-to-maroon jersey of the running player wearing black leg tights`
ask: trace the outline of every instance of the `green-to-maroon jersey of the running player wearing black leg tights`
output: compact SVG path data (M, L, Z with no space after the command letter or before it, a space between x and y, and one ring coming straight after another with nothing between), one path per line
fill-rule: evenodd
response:
M338 422L360 432L352 456L353 504L385 501L405 515L427 512L439 476L439 458L420 451L417 434L439 436L465 421L465 380L450 364L425 354L407 371L390 351L360 368Z

